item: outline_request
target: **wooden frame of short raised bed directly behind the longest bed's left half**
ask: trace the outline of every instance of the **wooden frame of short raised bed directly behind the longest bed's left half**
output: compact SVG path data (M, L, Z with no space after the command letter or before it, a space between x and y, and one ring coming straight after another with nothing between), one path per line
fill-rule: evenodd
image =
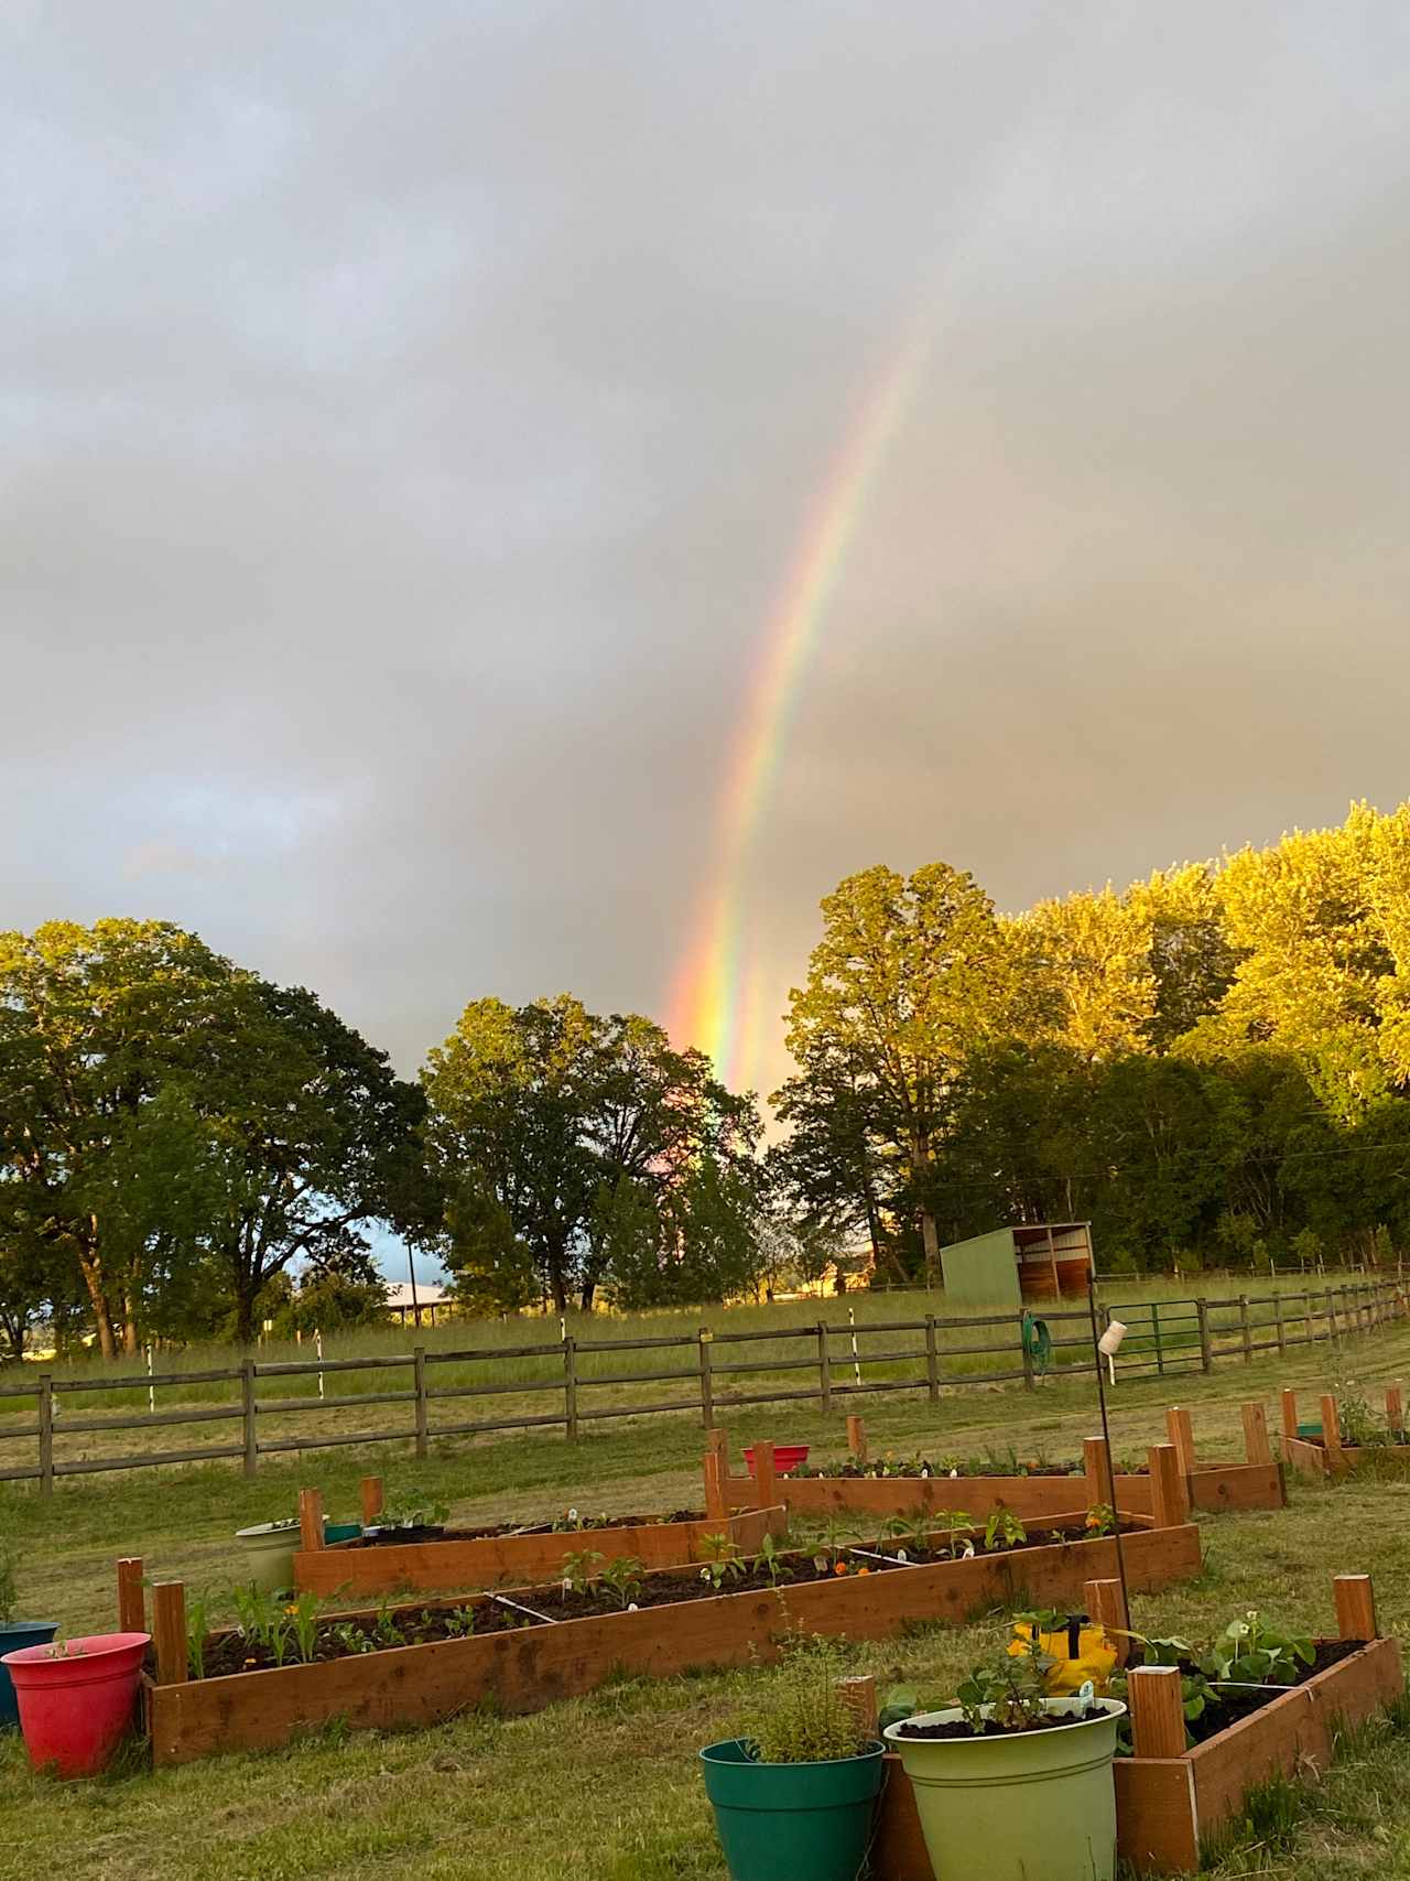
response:
M370 1486L376 1486L376 1494ZM376 1501L380 1510L382 1484L368 1478L363 1484L363 1514ZM743 1554L758 1554L765 1535L782 1537L788 1512L746 1509L733 1516L701 1516L681 1510L667 1516L620 1516L603 1524L555 1529L540 1525L502 1525L485 1529L446 1529L436 1541L402 1541L397 1529L384 1529L372 1539L320 1544L321 1505L318 1492L305 1490L299 1499L305 1546L293 1557L293 1586L312 1593L391 1593L400 1588L494 1588L508 1582L523 1586L543 1576L562 1574L564 1561L583 1550L596 1550L605 1559L634 1557L643 1567L681 1567L703 1561L709 1554L707 1537L728 1535ZM312 1546L308 1546L312 1542Z

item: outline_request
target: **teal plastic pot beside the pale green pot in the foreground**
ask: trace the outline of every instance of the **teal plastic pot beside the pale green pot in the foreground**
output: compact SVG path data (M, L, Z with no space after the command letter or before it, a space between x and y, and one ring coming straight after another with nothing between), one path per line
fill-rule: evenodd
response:
M857 1881L882 1787L882 1746L812 1764L756 1762L739 1738L699 1753L733 1881Z

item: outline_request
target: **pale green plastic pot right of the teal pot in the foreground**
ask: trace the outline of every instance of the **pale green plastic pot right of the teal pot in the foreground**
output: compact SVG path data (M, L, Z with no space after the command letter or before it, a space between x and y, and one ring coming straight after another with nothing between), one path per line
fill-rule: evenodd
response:
M1111 1759L1126 1706L1096 1699L1104 1717L1002 1738L906 1738L912 1725L949 1725L961 1708L885 1727L916 1793L936 1881L1113 1881L1117 1793ZM1047 1699L1049 1715L1083 1710ZM985 1708L987 1712L987 1708Z

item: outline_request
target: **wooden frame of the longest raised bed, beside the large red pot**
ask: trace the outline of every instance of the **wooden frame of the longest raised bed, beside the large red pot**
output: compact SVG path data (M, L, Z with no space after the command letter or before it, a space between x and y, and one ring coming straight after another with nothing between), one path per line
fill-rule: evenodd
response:
M1199 1529L1139 1529L1122 1537L1126 1578L1152 1591L1199 1573ZM887 1638L914 1620L964 1621L1019 1595L1055 1606L1081 1599L1090 1578L1115 1573L1111 1537L1060 1541L968 1561L899 1567L867 1576L784 1584L788 1621L812 1633ZM667 1569L666 1573L682 1573ZM686 1571L690 1573L690 1571ZM620 1672L669 1676L694 1667L769 1657L780 1631L778 1593L720 1593L679 1606L564 1620L513 1633L436 1640L357 1653L325 1665L286 1665L226 1678L186 1678L180 1582L154 1589L156 1678L145 1680L154 1764L192 1762L226 1749L288 1744L297 1732L344 1719L355 1731L429 1725L481 1699L506 1712L536 1712L592 1691ZM521 1597L532 1597L528 1593ZM479 1595L464 1604L481 1604ZM449 1604L449 1603L447 1603ZM118 1614L143 1616L141 1561L118 1563ZM145 1629L143 1629L145 1631Z

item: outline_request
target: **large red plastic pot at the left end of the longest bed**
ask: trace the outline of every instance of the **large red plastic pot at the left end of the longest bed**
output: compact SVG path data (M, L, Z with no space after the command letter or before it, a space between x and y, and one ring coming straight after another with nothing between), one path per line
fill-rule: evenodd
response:
M150 1633L92 1633L62 1646L21 1646L4 1665L36 1770L94 1776L132 1729Z

